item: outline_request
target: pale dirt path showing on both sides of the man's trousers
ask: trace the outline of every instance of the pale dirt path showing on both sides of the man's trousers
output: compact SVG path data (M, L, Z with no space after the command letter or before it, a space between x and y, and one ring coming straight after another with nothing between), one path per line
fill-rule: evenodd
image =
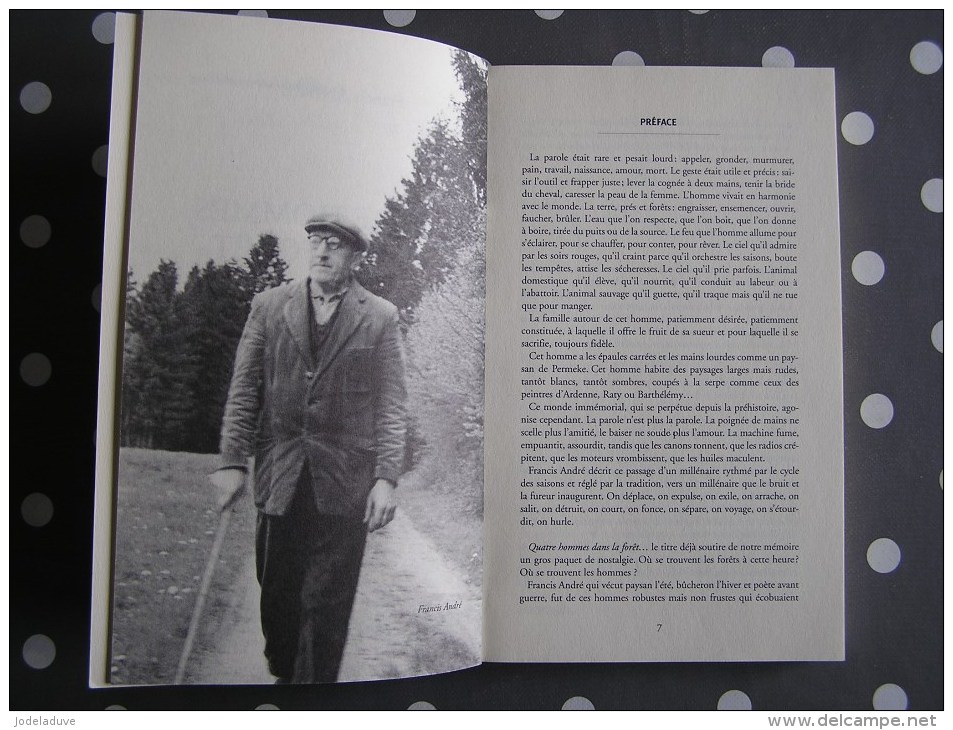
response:
M465 584L398 512L390 525L368 538L340 679L429 674L476 664L480 613L479 588ZM193 656L190 681L270 684L274 679L263 646L258 583L249 554L215 646Z

